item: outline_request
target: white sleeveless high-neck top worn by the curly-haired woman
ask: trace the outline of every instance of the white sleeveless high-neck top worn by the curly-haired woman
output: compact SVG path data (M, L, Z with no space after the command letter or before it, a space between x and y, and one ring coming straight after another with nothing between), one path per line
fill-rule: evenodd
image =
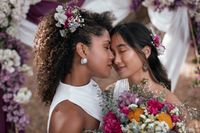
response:
M90 82L84 86L72 86L60 82L49 109L47 133L49 133L49 124L54 108L64 100L69 100L80 106L89 115L101 121L102 108L100 103L102 102L102 97L100 94L101 89L94 80L90 80Z

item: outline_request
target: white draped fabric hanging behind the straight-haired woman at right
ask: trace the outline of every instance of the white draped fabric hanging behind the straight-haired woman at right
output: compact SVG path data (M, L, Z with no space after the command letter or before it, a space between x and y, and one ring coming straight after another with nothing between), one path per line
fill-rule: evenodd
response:
M190 32L187 8L181 7L175 11L164 9L160 13L148 8L148 13L153 25L165 32L162 43L165 45L166 51L159 58L168 71L173 92L189 48Z

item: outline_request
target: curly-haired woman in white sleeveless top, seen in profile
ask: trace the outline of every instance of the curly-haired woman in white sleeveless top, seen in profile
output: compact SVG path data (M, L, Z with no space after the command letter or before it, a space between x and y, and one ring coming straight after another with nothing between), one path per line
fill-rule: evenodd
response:
M58 6L39 24L35 38L37 84L51 103L49 133L78 133L99 127L101 89L92 77L110 75L109 30L113 16Z

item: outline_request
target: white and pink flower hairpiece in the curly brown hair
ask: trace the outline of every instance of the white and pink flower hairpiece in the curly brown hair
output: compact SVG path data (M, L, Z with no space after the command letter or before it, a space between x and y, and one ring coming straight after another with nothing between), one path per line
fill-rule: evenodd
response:
M61 28L60 35L62 37L67 37L68 34L75 32L78 27L84 26L84 19L79 11L80 9L76 6L65 8L59 5L56 8L54 19L58 21L56 27Z

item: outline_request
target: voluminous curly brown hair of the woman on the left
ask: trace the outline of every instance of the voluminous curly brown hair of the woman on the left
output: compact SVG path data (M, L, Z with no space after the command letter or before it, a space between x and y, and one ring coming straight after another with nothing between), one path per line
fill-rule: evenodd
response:
M80 10L85 26L63 38L59 33L60 29L55 26L54 13L55 11L42 19L34 40L37 89L46 104L52 101L60 80L70 73L75 45L82 42L89 46L91 35L100 36L103 31L110 31L114 19L110 12L98 14Z

